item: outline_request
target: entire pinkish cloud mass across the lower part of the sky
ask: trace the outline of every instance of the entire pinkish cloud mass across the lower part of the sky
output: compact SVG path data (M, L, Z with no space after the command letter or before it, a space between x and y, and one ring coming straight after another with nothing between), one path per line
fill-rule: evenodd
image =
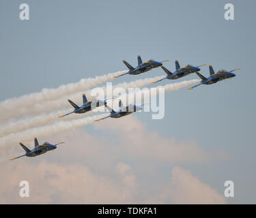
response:
M225 202L210 185L201 183L182 168L173 168L171 183L157 176L154 183L148 181L145 185L146 178L158 174L156 170L162 170L162 166L205 163L225 159L225 155L209 153L191 140L177 142L148 131L133 115L106 119L96 123L95 128L98 131L93 135L84 129L73 129L51 138L38 138L40 142L65 141L66 144L38 157L1 163L0 203ZM28 145L31 146L33 143ZM11 157L22 153L23 149L17 145ZM149 168L152 164L154 168ZM28 199L18 196L18 184L22 180L31 184Z

